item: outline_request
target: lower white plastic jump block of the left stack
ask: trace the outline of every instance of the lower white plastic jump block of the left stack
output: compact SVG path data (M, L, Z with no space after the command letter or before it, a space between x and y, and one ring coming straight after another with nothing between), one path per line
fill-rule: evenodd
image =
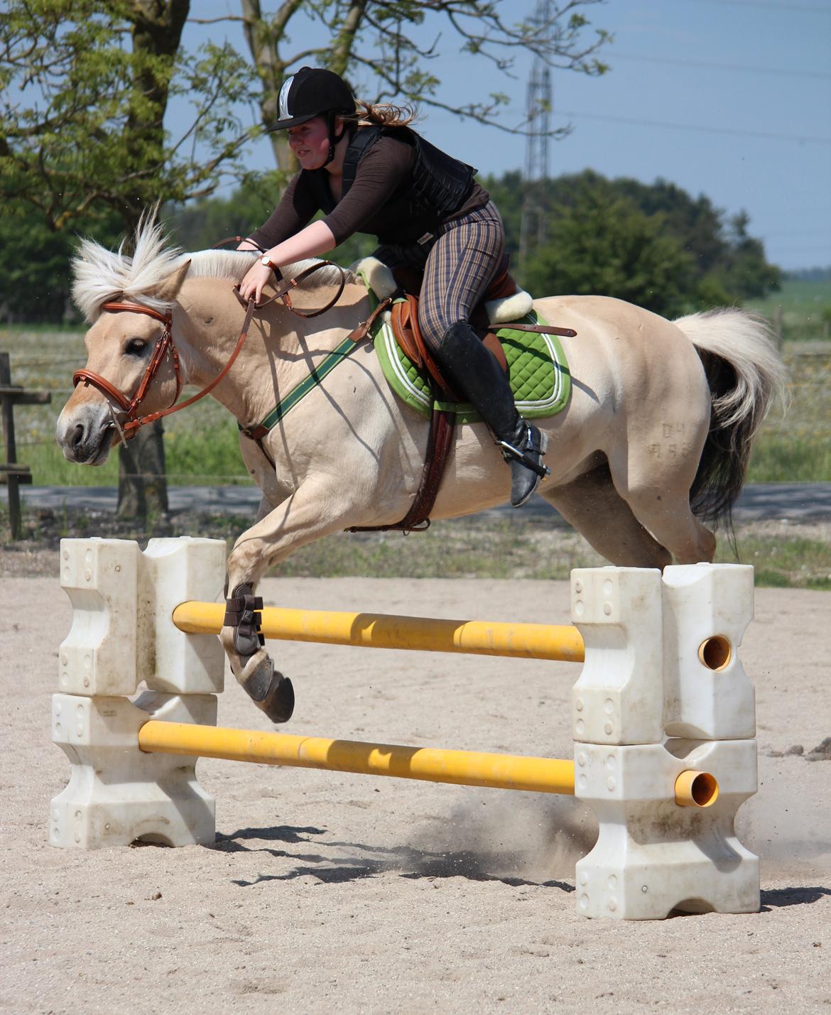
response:
M50 804L52 845L215 841L214 799L196 780L197 758L142 751L138 731L148 719L215 726L216 697L148 692L134 704L124 697L53 695L52 739L72 772Z

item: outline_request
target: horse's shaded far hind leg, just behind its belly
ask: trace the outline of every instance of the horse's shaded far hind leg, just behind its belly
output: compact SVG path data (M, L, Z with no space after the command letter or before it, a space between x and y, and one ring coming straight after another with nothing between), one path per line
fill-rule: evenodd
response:
M619 567L666 567L670 553L638 522L601 465L540 496L555 507L607 560Z

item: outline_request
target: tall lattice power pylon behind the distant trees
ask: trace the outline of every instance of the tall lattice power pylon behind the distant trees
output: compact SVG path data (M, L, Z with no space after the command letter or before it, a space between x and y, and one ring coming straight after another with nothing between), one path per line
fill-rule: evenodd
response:
M550 0L537 0L532 21L548 31L551 23ZM520 226L520 265L525 267L529 254L545 243L546 221L540 194L541 183L548 180L548 135L554 92L551 70L540 56L534 57L528 80L526 122L529 134L526 139L526 165L523 188L523 215Z

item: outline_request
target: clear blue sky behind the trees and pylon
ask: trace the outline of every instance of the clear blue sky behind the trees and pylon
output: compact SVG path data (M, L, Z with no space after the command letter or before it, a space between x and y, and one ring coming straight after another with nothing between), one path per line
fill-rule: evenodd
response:
M274 9L264 0L263 9ZM508 19L535 0L501 0ZM606 0L580 8L614 41L601 77L552 70L552 126L572 132L548 145L549 174L585 168L642 183L657 178L703 194L728 215L746 211L749 232L785 270L831 266L831 0ZM203 18L239 15L237 0L193 0ZM294 44L306 44L302 26ZM297 32L299 31L300 35ZM238 22L189 25L185 44L226 37L247 53ZM524 119L533 58L514 77L459 52L444 30L430 67L440 96L464 103L504 91L505 124ZM360 94L362 82L353 81ZM174 111L174 115L175 111ZM252 122L255 111L243 111ZM481 173L522 170L526 141L444 111L422 109L418 130ZM273 167L267 141L250 164Z

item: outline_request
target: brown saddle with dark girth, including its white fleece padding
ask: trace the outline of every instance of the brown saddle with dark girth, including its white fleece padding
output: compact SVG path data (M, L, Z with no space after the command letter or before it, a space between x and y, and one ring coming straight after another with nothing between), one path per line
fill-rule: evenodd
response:
M390 323L396 341L404 354L429 375L436 395L441 401L445 404L459 402L459 397L442 376L438 364L424 344L421 329L418 326L421 273L406 268L391 269L376 258L371 257L364 258L352 265L351 270L364 278L367 287L375 293L379 300L393 300ZM379 309L380 307L378 307ZM508 256L505 255L493 281L471 315L471 325L506 374L508 367L502 343L492 330L498 329L500 324L509 324L514 331L553 333L569 337L576 334L570 328L518 324L517 321L526 317L532 309L533 299L528 292L516 285L510 275ZM430 431L427 437L421 482L410 510L395 525L353 526L347 531L386 532L398 530L408 533L423 532L428 529L430 512L435 503L455 430L455 409L435 407L430 417Z

